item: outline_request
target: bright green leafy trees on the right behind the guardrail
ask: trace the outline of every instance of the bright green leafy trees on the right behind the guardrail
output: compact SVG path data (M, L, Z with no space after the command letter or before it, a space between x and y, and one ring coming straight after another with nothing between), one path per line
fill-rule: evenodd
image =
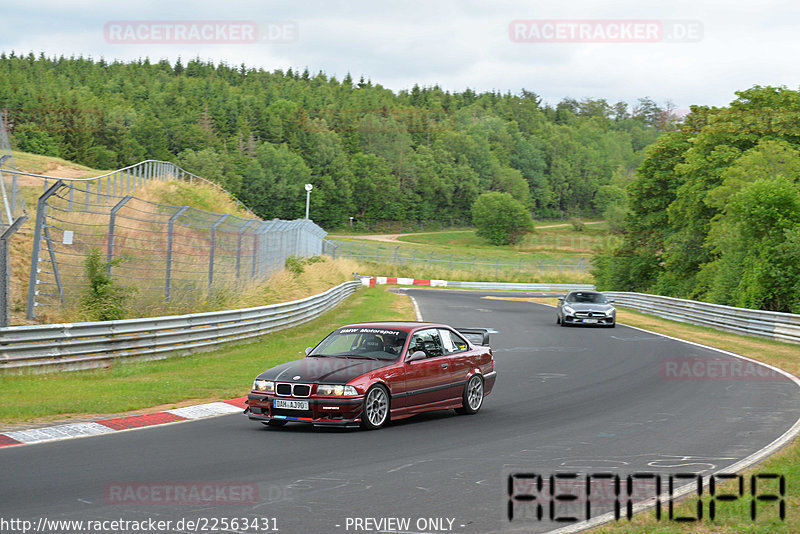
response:
M600 289L800 313L800 92L736 94L647 149Z

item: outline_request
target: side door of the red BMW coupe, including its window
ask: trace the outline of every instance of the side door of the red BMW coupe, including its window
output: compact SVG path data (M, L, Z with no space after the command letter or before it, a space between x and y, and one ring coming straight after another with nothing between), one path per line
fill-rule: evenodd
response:
M402 405L405 407L429 406L448 398L450 360L444 352L441 336L436 328L426 328L412 334L406 360L420 350L425 352L424 359L406 361L404 365L405 393Z

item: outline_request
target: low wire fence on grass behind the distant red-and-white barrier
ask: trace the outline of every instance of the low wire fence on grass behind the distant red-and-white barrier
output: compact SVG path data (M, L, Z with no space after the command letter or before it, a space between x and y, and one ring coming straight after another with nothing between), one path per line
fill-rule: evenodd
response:
M323 252L335 258L352 258L358 261L392 265L423 266L447 271L503 273L587 273L591 268L585 258L560 258L539 261L509 262L507 259L487 259L477 256L408 250L399 245L381 243L356 243L326 239Z

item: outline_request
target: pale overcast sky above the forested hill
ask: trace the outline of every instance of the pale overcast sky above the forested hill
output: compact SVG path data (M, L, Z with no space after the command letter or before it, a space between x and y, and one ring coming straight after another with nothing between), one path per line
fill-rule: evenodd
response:
M756 84L800 84L800 3L788 0L11 0L2 21L5 52L171 63L181 57L184 64L199 56L267 70L308 67L339 79L349 72L395 91L415 83L451 91L525 88L551 104L649 96L679 109L724 106L734 91ZM147 42L165 21L252 21L266 40ZM590 42L570 38L576 21ZM653 23L662 28L655 38L646 33ZM134 28L138 37L114 42L121 34L111 24L129 37ZM644 34L635 34L637 24ZM615 41L619 31L628 42ZM604 37L615 42L600 42ZM524 38L555 42L519 42Z

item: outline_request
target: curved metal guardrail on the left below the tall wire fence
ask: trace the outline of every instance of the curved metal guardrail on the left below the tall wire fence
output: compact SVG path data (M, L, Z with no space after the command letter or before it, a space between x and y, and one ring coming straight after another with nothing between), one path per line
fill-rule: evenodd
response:
M301 300L240 310L0 328L0 371L92 369L118 358L163 359L250 339L310 321L359 287L344 282Z

